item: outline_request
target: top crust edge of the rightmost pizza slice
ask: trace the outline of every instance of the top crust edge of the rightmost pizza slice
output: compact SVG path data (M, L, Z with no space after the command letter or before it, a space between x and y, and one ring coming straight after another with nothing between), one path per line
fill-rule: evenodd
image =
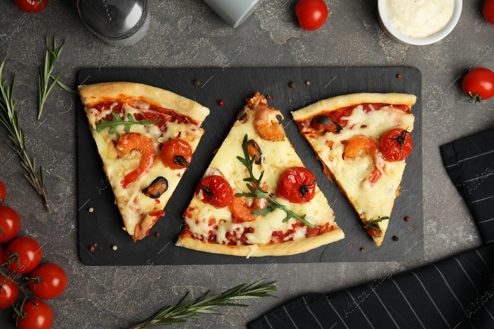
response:
M303 109L293 111L291 112L291 114L293 114L293 118L296 121L300 121L300 120L309 119L323 112L337 110L356 104L385 103L385 104L412 106L415 104L416 99L417 97L415 95L398 94L398 93L389 93L389 94L358 93L358 94L350 94L350 95L341 95L311 104Z

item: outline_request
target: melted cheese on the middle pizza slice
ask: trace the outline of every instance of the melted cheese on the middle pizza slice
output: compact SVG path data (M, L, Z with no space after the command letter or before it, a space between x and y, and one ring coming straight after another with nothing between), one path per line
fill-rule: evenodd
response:
M242 142L245 134L247 134L248 139L256 141L264 154L264 162L261 165L253 165L253 174L255 177L259 177L261 172L264 171L263 187L267 192L275 194L281 174L290 167L303 166L303 163L287 138L282 142L270 142L260 138L253 125L254 115L255 113L252 110L248 110L246 123L235 121L230 133L211 161L210 169L205 176L209 176L207 174L222 175L232 186L234 194L248 192L247 182L243 181L244 178L249 176L247 168L236 158L237 156L244 157ZM202 236L201 239L205 241L208 239L209 231L212 231L212 234L216 235L216 243L227 244L229 242L226 238L227 233L234 234L238 239L244 233L245 228L253 228L253 233L245 234L247 243L249 245L262 246L275 239L272 236L273 232L281 231L285 233L293 229L292 224L300 223L293 218L287 222L282 222L287 215L280 209L276 209L265 216L258 216L254 221L234 223L230 207L216 209L212 205L201 201L201 197L202 195L194 195L184 218L189 225L189 230L192 232L192 237L201 238L200 236ZM308 203L290 203L278 197L275 200L280 204L286 205L288 209L298 216L306 214L306 219L315 225L324 225L326 223L336 225L333 222L334 213L319 187L316 187L314 198ZM248 211L250 212L251 210ZM214 223L210 219L213 219ZM305 226L299 227L284 239L285 241L304 239L306 232Z

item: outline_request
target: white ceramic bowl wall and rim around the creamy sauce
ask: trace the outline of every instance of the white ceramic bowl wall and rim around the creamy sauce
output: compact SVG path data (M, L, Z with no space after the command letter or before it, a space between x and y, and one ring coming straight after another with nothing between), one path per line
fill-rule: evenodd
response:
M395 41L415 45L431 44L441 40L453 31L461 15L462 0L454 0L453 15L446 26L438 33L429 37L409 37L398 31L390 22L386 12L386 0L377 1L377 20L386 34Z

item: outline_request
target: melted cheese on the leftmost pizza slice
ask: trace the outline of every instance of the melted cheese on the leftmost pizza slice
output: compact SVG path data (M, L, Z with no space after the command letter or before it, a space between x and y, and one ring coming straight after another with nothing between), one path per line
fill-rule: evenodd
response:
M98 112L95 109L85 110L88 119L101 119L102 117L99 113L95 115L95 112ZM142 113L144 110L125 104L124 113L121 113L121 117L125 121L128 121L127 113ZM103 110L102 112L105 111L107 110ZM105 113L108 115L111 113L111 110L107 112ZM154 124L134 124L130 126L130 133L146 136L152 141L156 157L151 170L134 183L131 183L127 188L124 188L120 182L125 175L139 167L141 153L137 150L132 150L124 155L115 147L120 138L126 135L124 125L118 126L114 134L109 134L110 128L105 128L100 133L96 129L92 131L99 155L103 160L103 169L108 176L115 198L117 199L117 205L124 219L124 230L130 235L134 234L135 226L146 218L148 214L165 208L168 199L171 197L171 194L185 172L185 169L172 170L163 165L161 160L161 146L163 143L166 143L169 139L179 138L186 140L190 144L192 151L194 151L204 134L204 130L193 123L166 122L165 127L166 131L163 132ZM144 195L142 189L148 187L159 176L165 177L168 181L168 189L165 193L158 199L152 199ZM146 223L143 222L143 224Z

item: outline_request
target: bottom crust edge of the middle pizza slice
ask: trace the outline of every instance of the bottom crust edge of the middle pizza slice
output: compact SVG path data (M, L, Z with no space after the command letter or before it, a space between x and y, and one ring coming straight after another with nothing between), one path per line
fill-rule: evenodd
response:
M197 251L213 254L261 257L261 256L289 256L305 253L311 249L341 240L345 237L343 231L337 227L321 235L312 236L296 241L287 241L284 243L270 244L266 246L228 246L216 243L209 243L198 239L183 237L178 238L176 246L185 247Z

